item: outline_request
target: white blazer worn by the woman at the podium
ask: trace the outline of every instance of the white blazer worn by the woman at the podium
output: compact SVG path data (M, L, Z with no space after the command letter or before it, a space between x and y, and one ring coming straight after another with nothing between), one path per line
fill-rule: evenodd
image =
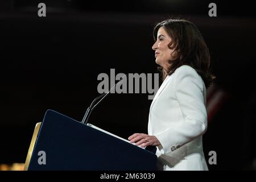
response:
M148 135L155 135L160 170L208 170L202 135L207 130L206 89L188 65L167 76L150 106Z

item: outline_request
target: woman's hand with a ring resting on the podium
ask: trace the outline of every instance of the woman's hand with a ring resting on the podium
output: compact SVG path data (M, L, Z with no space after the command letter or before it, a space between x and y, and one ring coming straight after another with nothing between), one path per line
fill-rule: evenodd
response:
M147 135L144 133L135 133L129 138L131 143L135 143L137 146L159 146L161 144L159 140L154 135Z

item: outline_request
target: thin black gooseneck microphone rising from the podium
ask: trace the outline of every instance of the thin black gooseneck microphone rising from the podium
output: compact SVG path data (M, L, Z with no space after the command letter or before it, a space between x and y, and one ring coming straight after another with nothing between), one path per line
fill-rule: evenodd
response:
M85 125L87 125L88 123L88 119L89 119L89 116L90 116L90 113L92 113L93 109L98 105L100 104L100 102L102 102L102 100L104 100L104 98L106 96L108 96L108 94L115 88L115 86L117 84L120 84L122 81L123 81L123 77L126 77L126 75L122 76L120 78L120 80L114 85L112 86L112 88L109 89L109 91L107 93L102 93L100 96L94 98L94 100L92 101L92 104L90 104L90 106L88 107L88 109L86 110L85 112L85 115L84 115L84 118L82 118L82 121L81 123L84 123ZM100 100L100 101L98 101ZM97 102L98 101L98 102ZM96 103L97 102L97 103ZM96 104L95 104L96 103Z

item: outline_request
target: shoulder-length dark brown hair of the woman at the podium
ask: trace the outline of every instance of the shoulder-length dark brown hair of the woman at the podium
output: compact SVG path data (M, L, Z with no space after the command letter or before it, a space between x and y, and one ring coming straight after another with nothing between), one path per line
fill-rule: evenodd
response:
M210 54L207 44L195 24L184 19L167 19L158 23L154 28L154 40L160 27L163 27L172 41L168 44L174 49L174 59L168 60L168 70L159 67L163 80L171 75L181 65L189 65L196 70L208 88L215 76L210 73Z

